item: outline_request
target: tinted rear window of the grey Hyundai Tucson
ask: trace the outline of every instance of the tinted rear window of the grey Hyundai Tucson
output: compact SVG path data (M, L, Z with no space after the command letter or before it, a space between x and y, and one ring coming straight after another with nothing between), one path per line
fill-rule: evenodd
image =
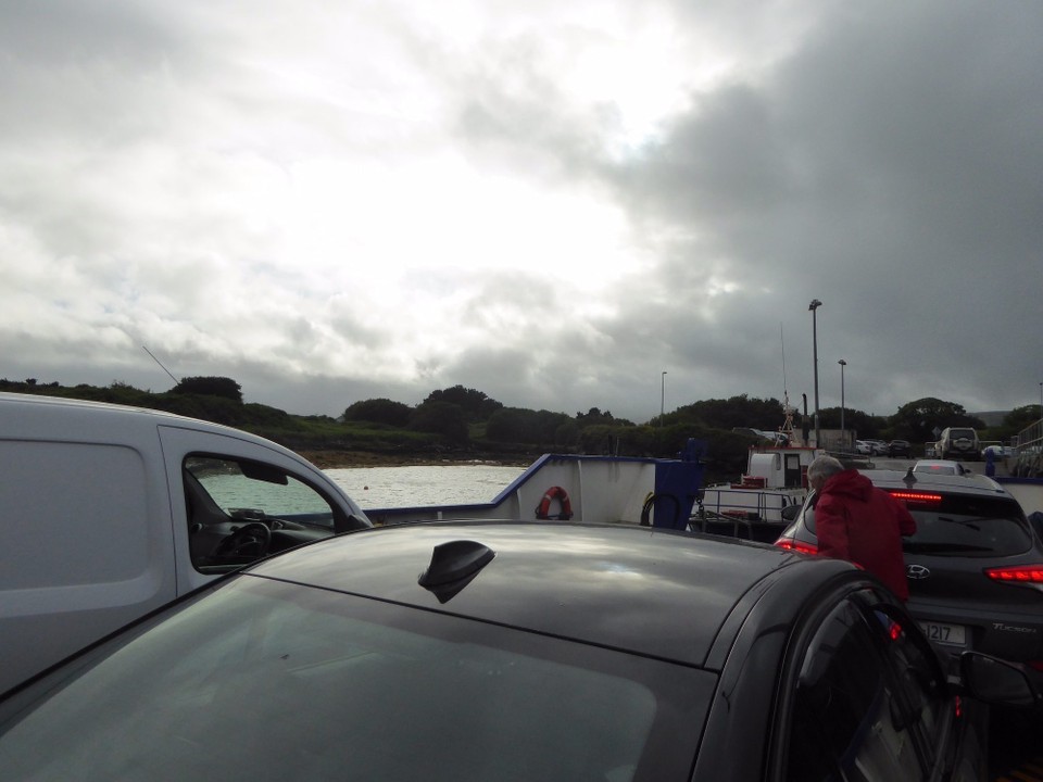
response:
M916 534L902 548L938 556L1009 556L1032 546L1021 506L1005 497L968 497L916 491L892 491L916 519ZM815 531L815 512L804 516Z

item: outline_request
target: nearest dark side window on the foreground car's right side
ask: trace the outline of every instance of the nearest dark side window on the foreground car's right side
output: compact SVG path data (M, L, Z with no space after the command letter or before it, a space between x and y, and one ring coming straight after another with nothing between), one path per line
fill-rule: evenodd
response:
M884 639L894 622L867 619L850 601L822 621L805 649L789 727L790 780L920 780L921 719L903 694ZM917 704L933 715L930 708ZM929 717L932 718L932 717ZM919 747L919 752L918 752Z

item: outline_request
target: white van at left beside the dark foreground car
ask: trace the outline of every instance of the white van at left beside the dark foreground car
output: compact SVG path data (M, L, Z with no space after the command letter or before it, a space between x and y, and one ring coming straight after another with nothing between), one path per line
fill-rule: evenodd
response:
M224 572L370 526L263 438L0 393L0 692Z

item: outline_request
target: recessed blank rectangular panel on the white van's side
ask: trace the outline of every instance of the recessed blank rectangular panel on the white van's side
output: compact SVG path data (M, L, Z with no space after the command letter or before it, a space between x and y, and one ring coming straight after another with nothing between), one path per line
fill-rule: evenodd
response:
M5 588L111 583L148 570L146 471L137 451L4 440L0 464Z

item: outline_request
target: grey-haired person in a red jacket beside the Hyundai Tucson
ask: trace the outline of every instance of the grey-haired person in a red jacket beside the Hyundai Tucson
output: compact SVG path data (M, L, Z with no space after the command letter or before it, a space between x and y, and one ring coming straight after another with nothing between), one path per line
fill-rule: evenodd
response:
M902 535L916 532L916 520L905 505L832 456L818 456L808 465L807 482L818 495L818 553L860 565L908 600Z

